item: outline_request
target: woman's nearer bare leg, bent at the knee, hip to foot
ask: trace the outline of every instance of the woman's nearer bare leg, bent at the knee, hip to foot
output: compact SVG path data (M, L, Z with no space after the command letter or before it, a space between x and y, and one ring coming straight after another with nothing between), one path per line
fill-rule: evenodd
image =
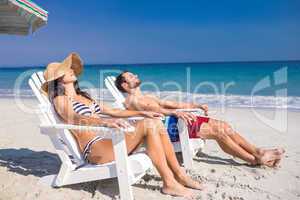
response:
M163 180L162 192L175 196L190 197L192 191L178 183L174 178L168 166L160 134L155 132L157 129L153 128L154 126L155 123L151 119L137 122L135 132L125 135L128 153L132 152L145 139L147 153ZM89 160L93 163L106 163L114 160L112 142L110 140L102 140L94 144Z

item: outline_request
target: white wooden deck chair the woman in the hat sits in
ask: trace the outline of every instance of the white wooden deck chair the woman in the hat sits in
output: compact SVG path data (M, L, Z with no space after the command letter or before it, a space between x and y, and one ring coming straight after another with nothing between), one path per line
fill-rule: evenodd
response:
M29 79L29 85L40 103L40 131L42 134L50 137L62 165L57 175L43 177L41 181L50 182L52 186L59 187L117 177L121 199L133 199L131 185L139 180L145 174L146 170L153 167L150 158L145 153L127 155L123 134L125 130L63 124L56 116L48 98L40 92L43 82L42 72L34 73ZM102 165L85 163L77 142L69 130L91 130L104 138L111 139L115 161Z

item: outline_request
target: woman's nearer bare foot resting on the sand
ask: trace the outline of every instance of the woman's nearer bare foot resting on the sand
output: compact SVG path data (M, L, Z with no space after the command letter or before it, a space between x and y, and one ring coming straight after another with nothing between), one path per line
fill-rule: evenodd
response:
M168 194L171 196L177 196L177 197L185 197L187 199L193 199L194 193L192 190L184 187L180 183L178 183L176 180L173 181L173 183L164 184L162 188L162 193Z

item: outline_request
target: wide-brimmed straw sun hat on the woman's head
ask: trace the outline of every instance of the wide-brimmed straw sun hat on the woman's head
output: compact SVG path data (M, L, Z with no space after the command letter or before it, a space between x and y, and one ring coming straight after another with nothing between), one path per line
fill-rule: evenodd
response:
M62 62L52 62L48 64L44 71L45 83L42 85L41 89L47 94L49 82L63 77L70 68L74 70L76 76L82 72L83 63L77 53L71 53Z

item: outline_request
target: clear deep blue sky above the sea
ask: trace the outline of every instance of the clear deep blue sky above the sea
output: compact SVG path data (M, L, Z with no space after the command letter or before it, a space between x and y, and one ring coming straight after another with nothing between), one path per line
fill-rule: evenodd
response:
M35 0L34 35L0 35L1 66L300 59L299 0ZM87 3L88 2L88 3Z

